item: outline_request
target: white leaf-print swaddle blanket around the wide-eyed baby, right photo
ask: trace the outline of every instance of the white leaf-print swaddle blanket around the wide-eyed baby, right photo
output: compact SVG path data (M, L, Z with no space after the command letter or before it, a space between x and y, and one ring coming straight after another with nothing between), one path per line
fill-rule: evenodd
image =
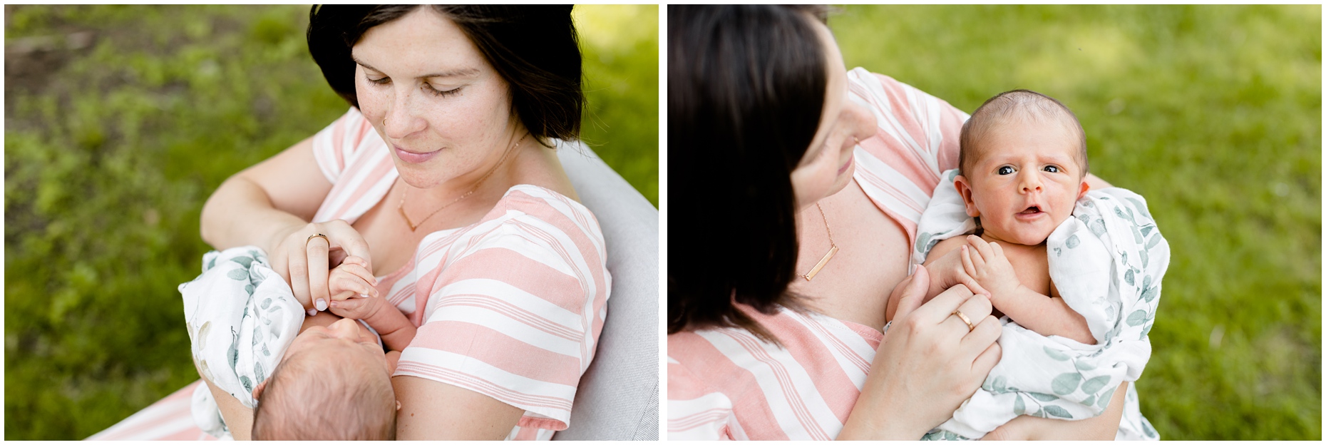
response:
M912 270L939 240L976 228L953 189L957 170L944 171L916 226ZM1142 376L1151 357L1147 333L1160 303L1170 244L1146 199L1124 189L1091 190L1073 218L1046 239L1050 279L1081 313L1094 345L1042 336L1006 316L1000 321L1002 357L980 389L927 440L980 438L1020 414L1082 420L1101 414L1123 381ZM1116 440L1159 440L1128 385Z

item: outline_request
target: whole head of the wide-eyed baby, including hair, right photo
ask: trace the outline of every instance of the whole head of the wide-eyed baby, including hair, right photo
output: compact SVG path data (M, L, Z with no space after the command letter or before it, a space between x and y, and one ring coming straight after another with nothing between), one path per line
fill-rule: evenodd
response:
M1000 93L963 124L955 187L988 235L1036 246L1086 194L1086 133L1059 101Z

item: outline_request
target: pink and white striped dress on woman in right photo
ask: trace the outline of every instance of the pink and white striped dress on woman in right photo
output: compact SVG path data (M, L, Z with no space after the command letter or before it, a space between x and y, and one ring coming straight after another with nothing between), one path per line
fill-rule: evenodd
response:
M847 73L849 96L879 132L855 150L854 178L886 215L916 236L916 222L957 166L967 113L888 76ZM747 315L784 348L737 328L667 339L668 440L833 440L847 421L883 335L823 315Z

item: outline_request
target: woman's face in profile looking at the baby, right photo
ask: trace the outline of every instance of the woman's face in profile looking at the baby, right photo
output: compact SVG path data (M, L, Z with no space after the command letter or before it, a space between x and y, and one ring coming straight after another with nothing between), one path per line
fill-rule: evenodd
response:
M875 116L870 110L847 100L847 70L829 27L818 20L810 21L825 45L829 88L823 114L819 116L819 129L801 163L792 170L792 189L800 207L812 206L847 186L855 171L851 158L855 141L874 135L876 128Z

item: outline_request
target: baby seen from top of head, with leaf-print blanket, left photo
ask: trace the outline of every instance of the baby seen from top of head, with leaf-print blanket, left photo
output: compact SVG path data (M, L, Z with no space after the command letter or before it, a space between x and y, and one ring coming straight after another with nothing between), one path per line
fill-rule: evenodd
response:
M377 296L377 279L362 258L346 258L328 282L330 312L345 319L305 316L312 303L297 299L253 247L207 254L203 275L180 284L195 364L255 409L255 440L395 436L390 377L415 327L386 299L367 298ZM195 420L212 436L227 436L211 395L200 389Z

